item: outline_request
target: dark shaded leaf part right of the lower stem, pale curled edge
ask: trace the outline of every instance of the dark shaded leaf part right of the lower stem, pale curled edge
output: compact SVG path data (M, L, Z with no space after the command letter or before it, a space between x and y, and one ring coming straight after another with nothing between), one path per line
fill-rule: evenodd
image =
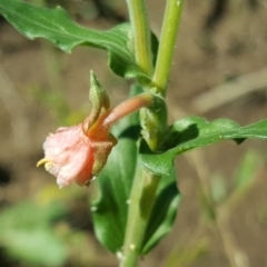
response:
M142 255L149 253L171 230L181 199L176 184L175 171L160 180L156 202L146 231Z

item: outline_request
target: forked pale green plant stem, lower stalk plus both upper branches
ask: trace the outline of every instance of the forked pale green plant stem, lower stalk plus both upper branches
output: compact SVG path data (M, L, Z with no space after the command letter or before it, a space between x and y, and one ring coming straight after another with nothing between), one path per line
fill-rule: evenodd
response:
M152 72L151 37L145 3L144 0L127 0L127 3L132 27L136 61L150 76ZM165 95L169 77L181 4L182 0L169 0L166 9L156 72L152 80L161 95ZM149 125L148 121L142 122ZM144 130L151 131L149 128ZM147 132L147 136L152 136L150 134ZM145 170L140 165L138 166L129 199L120 267L135 267L138 263L159 181L159 176Z

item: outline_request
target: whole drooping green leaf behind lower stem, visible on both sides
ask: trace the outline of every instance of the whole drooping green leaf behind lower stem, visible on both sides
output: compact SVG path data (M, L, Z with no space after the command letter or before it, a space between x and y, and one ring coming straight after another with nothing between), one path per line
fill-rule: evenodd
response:
M100 192L92 201L91 210L99 241L115 254L123 245L128 199L136 175L137 139L140 134L138 115L122 119L112 129L112 134L118 137L118 145L97 179ZM162 177L142 244L142 254L148 253L170 230L180 198L178 194L175 174Z

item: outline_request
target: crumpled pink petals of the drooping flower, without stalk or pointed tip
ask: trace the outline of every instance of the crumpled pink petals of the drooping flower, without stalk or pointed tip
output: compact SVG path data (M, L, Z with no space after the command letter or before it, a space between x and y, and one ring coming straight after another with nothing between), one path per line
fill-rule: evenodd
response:
M59 128L50 134L44 144L44 158L37 166L57 177L60 188L76 181L79 186L89 185L107 161L113 147L113 139L98 141L90 139L82 129L82 123Z

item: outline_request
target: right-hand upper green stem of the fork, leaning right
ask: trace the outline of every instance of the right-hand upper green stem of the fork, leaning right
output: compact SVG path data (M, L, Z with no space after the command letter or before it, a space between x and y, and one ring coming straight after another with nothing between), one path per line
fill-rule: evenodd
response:
M161 95L166 93L182 4L184 0L168 0L165 11L156 69L152 78L152 85L158 88L158 92Z

